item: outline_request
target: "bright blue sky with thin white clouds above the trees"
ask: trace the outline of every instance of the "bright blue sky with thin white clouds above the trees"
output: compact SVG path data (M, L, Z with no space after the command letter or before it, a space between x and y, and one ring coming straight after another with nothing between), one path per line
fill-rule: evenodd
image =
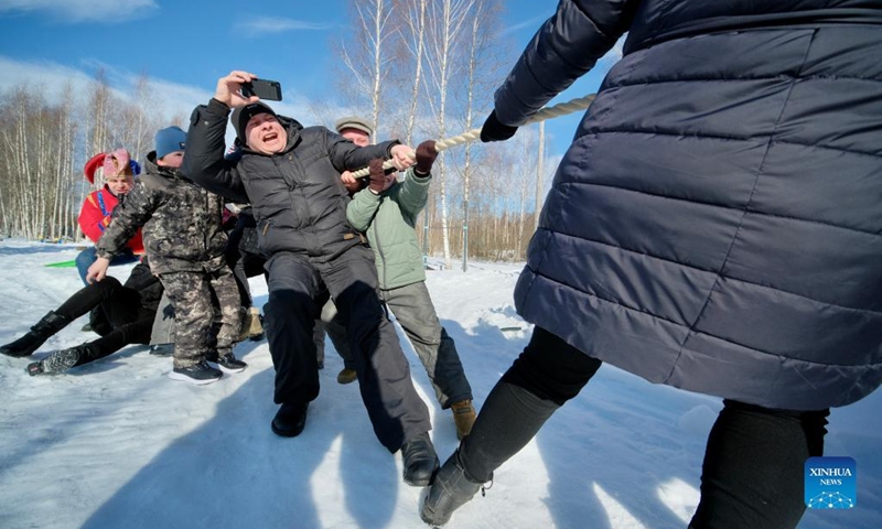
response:
M280 80L287 105L281 110L297 117L303 106L333 99L327 95L335 89L333 45L348 31L347 3L0 0L0 67L17 73L0 79L0 88L23 78L57 88L63 79L85 82L101 68L125 93L146 73L159 87L161 104L189 115L211 97L218 77L247 69ZM555 0L506 1L504 37L519 52L556 6ZM593 93L609 63L552 102ZM577 125L576 116L548 123L549 154L562 153Z

